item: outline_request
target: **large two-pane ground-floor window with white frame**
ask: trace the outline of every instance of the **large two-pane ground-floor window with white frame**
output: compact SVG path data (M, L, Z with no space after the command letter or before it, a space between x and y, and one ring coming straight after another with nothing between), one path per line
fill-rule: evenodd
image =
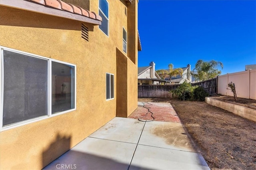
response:
M76 65L0 46L0 130L76 110Z

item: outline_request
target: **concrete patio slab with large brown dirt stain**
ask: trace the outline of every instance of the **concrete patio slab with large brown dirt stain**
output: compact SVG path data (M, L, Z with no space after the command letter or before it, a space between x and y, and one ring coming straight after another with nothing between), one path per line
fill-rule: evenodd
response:
M146 122L138 144L195 152L181 123Z

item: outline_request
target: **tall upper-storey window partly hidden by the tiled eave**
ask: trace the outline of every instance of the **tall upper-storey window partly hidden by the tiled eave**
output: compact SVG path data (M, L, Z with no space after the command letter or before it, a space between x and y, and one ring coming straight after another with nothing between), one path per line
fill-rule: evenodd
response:
M109 20L108 20L109 5L107 0L99 0L99 15L102 18L99 28L108 36L109 33Z

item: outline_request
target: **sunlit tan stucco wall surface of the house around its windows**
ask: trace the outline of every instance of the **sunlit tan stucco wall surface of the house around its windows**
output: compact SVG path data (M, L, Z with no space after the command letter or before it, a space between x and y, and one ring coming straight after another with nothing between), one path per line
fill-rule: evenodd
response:
M122 49L122 27L129 29L124 3L108 2L109 37L95 26L89 42L79 21L0 6L0 45L76 64L77 71L76 111L0 132L0 169L41 169L116 116L116 47ZM97 0L90 10L98 14ZM132 92L123 103L130 114L137 107L138 66L127 59ZM108 101L106 72L115 76L115 98Z

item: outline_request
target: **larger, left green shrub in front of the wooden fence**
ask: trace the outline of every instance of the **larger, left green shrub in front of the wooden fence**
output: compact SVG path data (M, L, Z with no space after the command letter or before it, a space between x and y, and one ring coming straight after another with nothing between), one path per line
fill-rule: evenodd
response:
M194 89L190 83L184 82L175 90L172 90L172 97L178 98L179 100L194 100Z

